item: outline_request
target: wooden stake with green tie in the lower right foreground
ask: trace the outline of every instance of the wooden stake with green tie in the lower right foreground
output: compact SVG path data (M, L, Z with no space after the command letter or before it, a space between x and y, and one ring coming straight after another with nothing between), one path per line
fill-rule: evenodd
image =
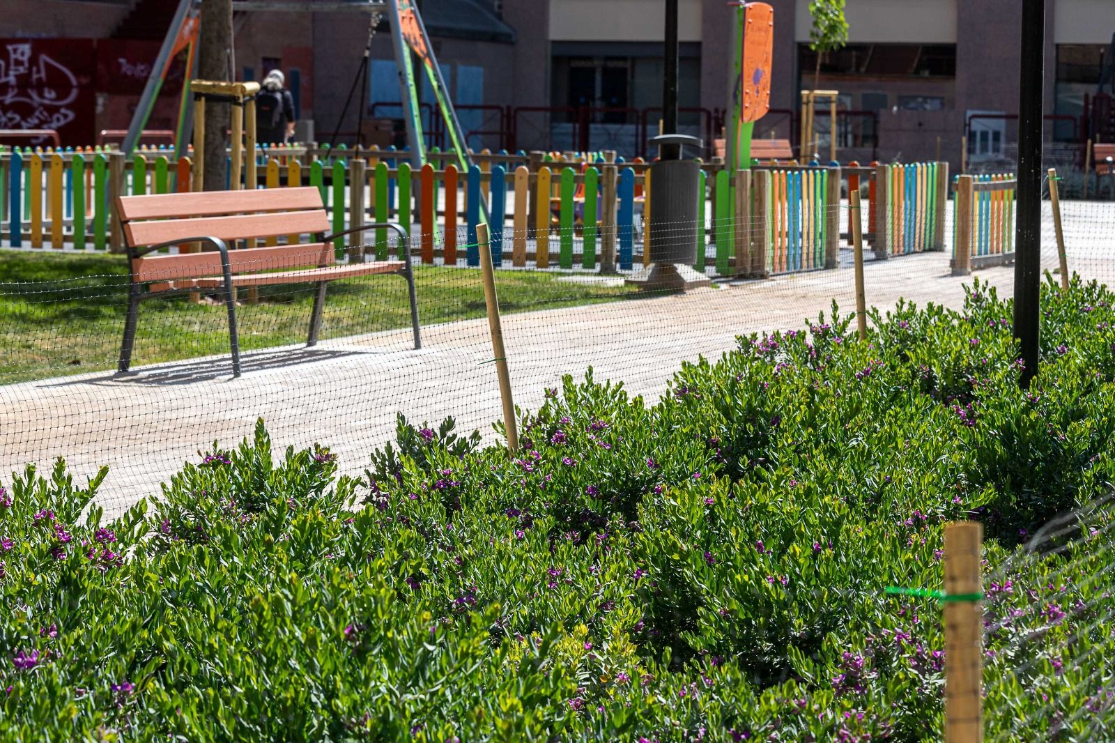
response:
M944 528L944 741L983 740L983 605L975 521Z

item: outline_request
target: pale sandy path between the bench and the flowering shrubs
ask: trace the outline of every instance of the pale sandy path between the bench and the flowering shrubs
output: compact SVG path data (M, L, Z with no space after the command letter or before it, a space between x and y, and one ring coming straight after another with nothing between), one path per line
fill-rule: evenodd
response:
M1055 263L1044 257L1043 266ZM1010 296L1012 267L979 271ZM905 255L866 266L869 306L900 298L958 307L970 277L951 277L947 253ZM536 409L562 375L623 380L652 401L683 360L716 358L735 338L799 328L835 299L854 309L851 269L720 284L687 295L511 315L504 318L515 402ZM245 357L231 378L226 356L9 385L0 389L0 479L29 461L65 456L78 481L108 465L99 502L117 512L198 461L198 447L232 446L263 417L277 444L328 444L342 472L359 474L369 453L394 438L396 414L419 424L454 416L457 430L487 440L500 417L495 365L485 319L427 326L421 350L408 330L351 336L313 349L284 347ZM19 444L17 447L14 443Z

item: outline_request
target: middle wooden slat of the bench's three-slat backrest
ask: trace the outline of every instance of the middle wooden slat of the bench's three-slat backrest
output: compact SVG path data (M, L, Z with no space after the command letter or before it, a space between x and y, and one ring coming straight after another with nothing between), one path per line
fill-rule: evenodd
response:
M319 197L320 199L320 197ZM320 206L308 212L277 214L243 214L240 216L203 216L188 220L128 222L124 225L133 247L154 245L190 238L244 240L281 234L329 232L329 218Z

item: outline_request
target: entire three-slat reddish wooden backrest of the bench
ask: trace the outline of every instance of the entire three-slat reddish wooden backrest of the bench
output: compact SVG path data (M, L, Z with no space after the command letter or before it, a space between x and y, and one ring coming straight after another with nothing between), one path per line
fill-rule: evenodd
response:
M119 196L117 213L129 249L172 240L220 238L229 243L233 273L329 266L331 245L320 242L232 250L236 240L291 235L311 240L329 231L329 218L316 187L212 191L147 196ZM214 276L221 272L216 251L175 255L133 253L132 273L136 281Z

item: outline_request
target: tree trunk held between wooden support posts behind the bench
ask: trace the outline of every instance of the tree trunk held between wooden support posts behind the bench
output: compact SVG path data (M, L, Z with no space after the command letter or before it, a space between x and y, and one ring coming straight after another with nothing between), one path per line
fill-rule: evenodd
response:
M197 76L203 80L232 80L232 0L202 0L201 21ZM205 191L226 187L229 108L229 104L216 102L205 106Z

